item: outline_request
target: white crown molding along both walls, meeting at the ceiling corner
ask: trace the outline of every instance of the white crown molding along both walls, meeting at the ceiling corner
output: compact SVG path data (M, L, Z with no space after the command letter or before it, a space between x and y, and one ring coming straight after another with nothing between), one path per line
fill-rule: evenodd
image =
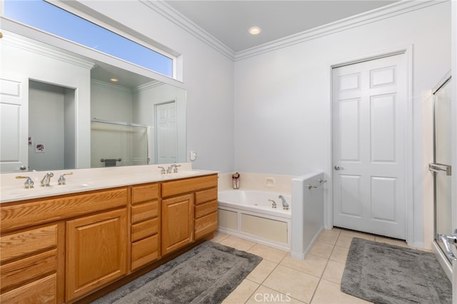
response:
M436 4L441 4L450 0L406 0L398 1L387 6L383 6L379 9L374 9L366 13L358 14L356 16L351 16L346 19L341 19L339 21L332 22L331 24L326 24L323 26L318 26L314 29L308 31L303 31L298 34L293 34L291 36L286 36L275 41L267 42L266 44L261 44L260 46L254 46L253 48L246 49L243 51L235 52L231 50L225 44L222 44L221 41L216 39L214 36L209 34L204 29L201 29L193 21L188 19L183 14L176 11L169 4L166 4L163 0L139 0L150 9L153 9L157 13L164 16L169 21L179 26L181 29L184 29L189 34L195 36L197 39L200 39L205 44L208 44L216 51L221 52L224 56L232 59L233 61L243 60L252 56L257 56L260 54L267 53L269 51L275 51L277 49L283 49L288 46L293 46L294 44L301 44L305 41L310 41L312 39L317 39L319 37L335 34L339 31L345 31L347 29L353 29L358 26L363 26L365 24L370 24L372 22L381 21L383 19L388 19L393 16L398 16L401 14L406 14L410 11L416 11L418 9L423 9L428 6L433 6Z

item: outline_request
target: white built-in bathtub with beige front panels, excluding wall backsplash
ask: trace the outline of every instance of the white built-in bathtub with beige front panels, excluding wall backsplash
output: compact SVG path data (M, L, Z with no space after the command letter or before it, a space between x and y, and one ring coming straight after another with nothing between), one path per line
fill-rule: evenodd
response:
M283 210L283 195L288 210ZM272 200L276 208L272 208ZM291 249L291 196L253 190L224 190L218 193L221 233L252 240L273 248Z

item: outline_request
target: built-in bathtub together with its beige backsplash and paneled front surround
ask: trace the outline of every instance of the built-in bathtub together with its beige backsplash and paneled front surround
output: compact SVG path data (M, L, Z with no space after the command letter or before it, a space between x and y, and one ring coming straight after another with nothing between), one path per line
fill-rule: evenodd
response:
M291 206L294 176L239 172L240 187L233 190L231 175L219 173L219 231L281 250L291 249L291 212L283 210L284 196ZM276 208L272 208L275 201Z

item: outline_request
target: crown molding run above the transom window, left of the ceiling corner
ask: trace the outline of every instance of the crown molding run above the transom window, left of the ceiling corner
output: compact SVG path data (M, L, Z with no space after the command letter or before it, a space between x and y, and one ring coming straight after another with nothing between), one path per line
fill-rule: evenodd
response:
M149 7L156 11L157 13L164 16L169 21L173 22L176 26L179 26L184 31L187 31L192 36L203 41L205 44L211 46L216 51L219 51L224 56L228 57L231 60L235 59L235 52L230 49L228 46L223 44L221 41L216 39L216 37L209 34L204 29L201 29L200 26L196 25L194 21L191 21L189 18L181 14L179 11L176 11L169 4L166 4L163 0L139 0L145 6Z

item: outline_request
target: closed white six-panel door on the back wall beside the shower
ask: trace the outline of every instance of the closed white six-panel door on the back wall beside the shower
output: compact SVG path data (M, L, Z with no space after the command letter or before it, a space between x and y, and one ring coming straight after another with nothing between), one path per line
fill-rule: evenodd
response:
M406 239L406 64L333 69L333 226Z

